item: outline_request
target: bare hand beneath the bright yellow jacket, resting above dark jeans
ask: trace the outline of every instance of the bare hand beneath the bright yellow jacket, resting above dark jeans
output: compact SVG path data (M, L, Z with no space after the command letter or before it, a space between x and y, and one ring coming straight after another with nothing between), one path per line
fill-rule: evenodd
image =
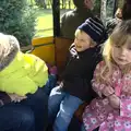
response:
M11 100L14 103L17 103L17 102L21 102L21 100L27 98L27 96L19 96L16 94L8 94L8 95L10 96Z

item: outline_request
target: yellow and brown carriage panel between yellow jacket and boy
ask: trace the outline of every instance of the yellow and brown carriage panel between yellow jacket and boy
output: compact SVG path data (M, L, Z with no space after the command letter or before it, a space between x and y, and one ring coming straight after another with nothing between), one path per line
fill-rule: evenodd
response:
M61 74L66 67L69 47L72 43L72 39L63 37L34 38L32 41L32 53L38 56L49 64L56 64L58 73Z

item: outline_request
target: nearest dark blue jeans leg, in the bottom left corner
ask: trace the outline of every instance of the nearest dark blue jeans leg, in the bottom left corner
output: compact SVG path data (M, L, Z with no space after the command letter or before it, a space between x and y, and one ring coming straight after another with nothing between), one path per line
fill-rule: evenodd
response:
M0 107L0 131L35 131L32 109L20 105Z

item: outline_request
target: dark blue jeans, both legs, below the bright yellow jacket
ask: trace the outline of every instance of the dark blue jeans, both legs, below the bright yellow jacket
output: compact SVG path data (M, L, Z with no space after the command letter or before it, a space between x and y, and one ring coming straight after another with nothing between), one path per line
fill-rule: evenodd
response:
M46 131L48 126L48 96L44 88L20 103L0 107L0 131Z

